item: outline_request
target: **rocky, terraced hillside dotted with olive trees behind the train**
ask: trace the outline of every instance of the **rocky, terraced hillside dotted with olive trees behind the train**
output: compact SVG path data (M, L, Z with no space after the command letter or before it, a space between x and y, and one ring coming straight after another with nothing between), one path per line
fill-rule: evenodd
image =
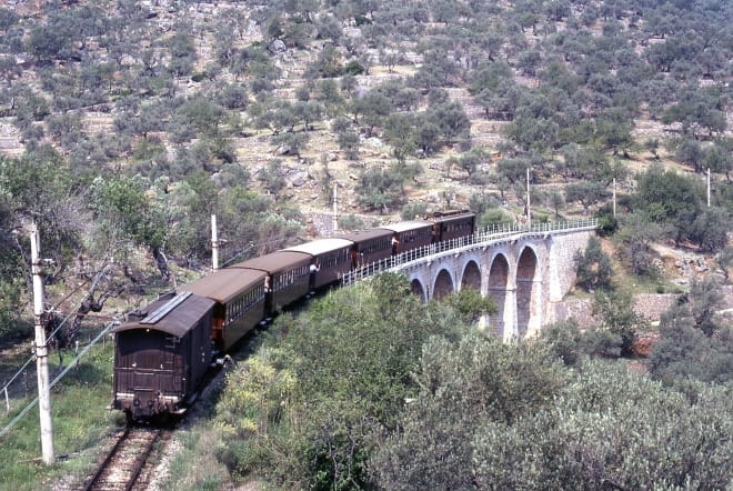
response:
M730 18L656 0L6 2L3 275L22 270L10 232L40 217L52 275L133 248L169 282L169 263L208 262L211 213L229 258L331 233L334 193L340 228L516 221L528 169L536 220L609 210L615 182L622 216L662 226L615 246L634 273L663 260L652 243L710 257L733 201Z

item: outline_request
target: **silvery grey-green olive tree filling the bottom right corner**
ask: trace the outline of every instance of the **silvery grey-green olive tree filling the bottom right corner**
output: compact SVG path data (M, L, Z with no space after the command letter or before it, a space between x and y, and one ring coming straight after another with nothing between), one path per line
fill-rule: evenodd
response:
M474 485L725 487L732 479L724 457L730 442L713 427L731 425L720 412L726 411L730 388L695 385L694 391L690 401L636 373L591 363L552 408L513 425L490 422L476 432Z

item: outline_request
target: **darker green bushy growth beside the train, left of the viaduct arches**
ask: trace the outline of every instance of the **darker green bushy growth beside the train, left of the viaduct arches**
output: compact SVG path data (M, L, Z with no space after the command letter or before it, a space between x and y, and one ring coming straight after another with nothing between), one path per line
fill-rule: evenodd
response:
M252 382L218 405L224 454L238 473L318 489L370 485L369 455L415 391L409 373L423 343L465 329L448 305L422 305L395 274L334 292L278 327L287 332L280 347L232 375Z

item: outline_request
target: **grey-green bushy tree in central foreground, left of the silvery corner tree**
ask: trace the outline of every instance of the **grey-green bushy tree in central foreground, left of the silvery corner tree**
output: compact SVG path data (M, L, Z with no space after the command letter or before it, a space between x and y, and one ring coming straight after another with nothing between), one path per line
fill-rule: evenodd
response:
M473 442L482 429L522 421L563 383L562 369L545 355L540 347L478 334L458 344L431 340L415 374L420 393L372 458L378 487L474 489L481 461Z

